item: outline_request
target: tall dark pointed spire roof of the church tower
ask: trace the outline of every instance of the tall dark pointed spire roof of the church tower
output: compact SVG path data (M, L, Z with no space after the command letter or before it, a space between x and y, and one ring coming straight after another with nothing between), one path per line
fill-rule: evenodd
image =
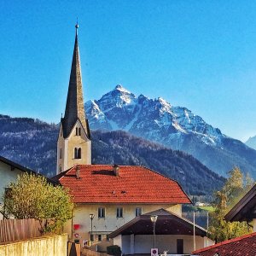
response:
M70 79L67 92L67 103L64 118L61 119L63 130L63 137L68 137L73 129L73 125L79 119L85 131L87 132L88 122L85 120L84 113L84 97L82 74L79 58L79 39L78 39L78 25L76 25L75 44L73 48L73 61L70 72Z

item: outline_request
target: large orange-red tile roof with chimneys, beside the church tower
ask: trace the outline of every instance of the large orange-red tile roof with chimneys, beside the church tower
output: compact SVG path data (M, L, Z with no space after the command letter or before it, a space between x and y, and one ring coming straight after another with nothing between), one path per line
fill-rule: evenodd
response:
M79 165L62 172L55 179L70 189L76 203L190 203L177 181L143 166Z

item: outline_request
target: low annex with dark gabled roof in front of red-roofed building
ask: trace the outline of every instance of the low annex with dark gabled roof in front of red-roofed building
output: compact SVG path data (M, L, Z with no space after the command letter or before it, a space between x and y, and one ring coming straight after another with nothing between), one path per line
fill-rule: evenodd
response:
M152 216L157 216L155 242L152 234ZM196 248L213 244L213 241L207 238L207 230L191 223L181 215L162 208L132 219L109 234L109 237L113 238L113 244L121 247L124 254L147 254L155 243L159 253L166 251L168 255L188 255Z

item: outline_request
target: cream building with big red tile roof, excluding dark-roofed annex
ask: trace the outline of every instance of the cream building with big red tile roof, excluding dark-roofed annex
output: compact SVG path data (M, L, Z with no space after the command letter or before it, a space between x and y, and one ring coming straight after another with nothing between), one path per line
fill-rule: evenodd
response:
M93 241L102 250L113 243L107 235L133 218L160 208L181 216L182 204L191 202L176 181L143 166L79 165L54 180L69 189L76 204L65 231L73 241L84 246Z

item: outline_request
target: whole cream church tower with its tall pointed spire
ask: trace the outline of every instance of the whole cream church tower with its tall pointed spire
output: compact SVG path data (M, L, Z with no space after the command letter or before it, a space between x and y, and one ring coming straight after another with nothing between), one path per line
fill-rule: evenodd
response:
M67 92L65 115L61 117L57 141L57 174L75 165L91 164L91 140L88 119L84 113L82 74L76 26L73 61Z

